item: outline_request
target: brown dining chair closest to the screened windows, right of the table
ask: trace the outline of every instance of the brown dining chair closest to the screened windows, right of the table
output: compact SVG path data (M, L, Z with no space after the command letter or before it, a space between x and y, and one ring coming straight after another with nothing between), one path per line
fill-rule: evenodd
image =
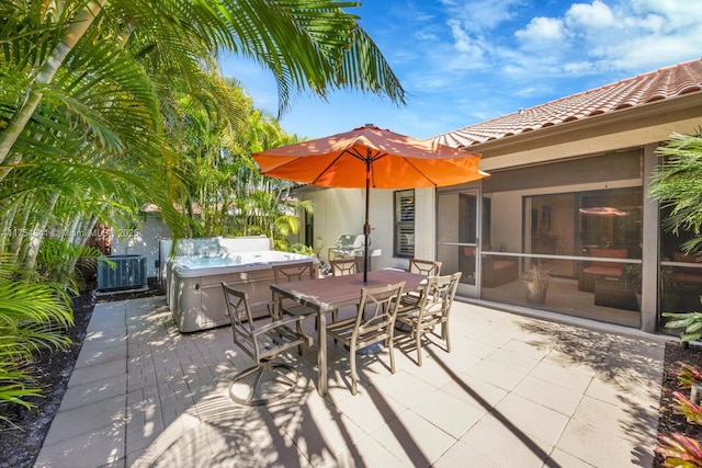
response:
M421 366L421 341L427 333L433 333L441 326L441 340L446 343L446 353L451 352L449 317L456 295L461 272L444 276L429 276L427 286L415 308L404 308L397 315L397 323L407 328L417 344L417 365Z

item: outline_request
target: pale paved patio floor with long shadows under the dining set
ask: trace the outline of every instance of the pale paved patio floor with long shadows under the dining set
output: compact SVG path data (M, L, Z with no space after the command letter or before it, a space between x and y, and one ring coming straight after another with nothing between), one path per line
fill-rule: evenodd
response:
M308 320L309 327L314 322ZM329 342L285 356L298 389L231 401L250 358L229 328L180 334L162 297L95 307L37 467L649 467L665 340L454 303L452 352L408 344L359 361Z

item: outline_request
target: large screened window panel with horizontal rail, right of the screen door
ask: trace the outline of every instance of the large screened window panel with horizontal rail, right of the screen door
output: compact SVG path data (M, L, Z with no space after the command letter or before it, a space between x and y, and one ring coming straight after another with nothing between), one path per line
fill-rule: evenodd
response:
M632 149L483 179L482 254L458 251L464 275L479 262L479 298L638 328L641 168L641 149ZM524 294L520 273L532 265L551 276L543 304Z

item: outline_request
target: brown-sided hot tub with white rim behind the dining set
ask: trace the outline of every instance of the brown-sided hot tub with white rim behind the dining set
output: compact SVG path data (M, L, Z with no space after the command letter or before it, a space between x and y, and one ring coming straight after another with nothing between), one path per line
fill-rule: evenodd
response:
M181 332L229 324L222 282L249 294L249 301L269 301L274 264L313 262L316 256L264 250L219 252L176 256L169 262L169 306ZM268 315L265 307L252 308L254 317Z

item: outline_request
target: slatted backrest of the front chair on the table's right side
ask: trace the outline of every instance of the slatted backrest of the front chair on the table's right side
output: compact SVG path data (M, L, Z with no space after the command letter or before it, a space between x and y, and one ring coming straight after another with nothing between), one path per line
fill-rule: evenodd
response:
M364 287L361 290L354 339L373 334L375 339L372 342L378 342L384 340L383 336L392 336L404 287L405 282L400 282L387 286Z

